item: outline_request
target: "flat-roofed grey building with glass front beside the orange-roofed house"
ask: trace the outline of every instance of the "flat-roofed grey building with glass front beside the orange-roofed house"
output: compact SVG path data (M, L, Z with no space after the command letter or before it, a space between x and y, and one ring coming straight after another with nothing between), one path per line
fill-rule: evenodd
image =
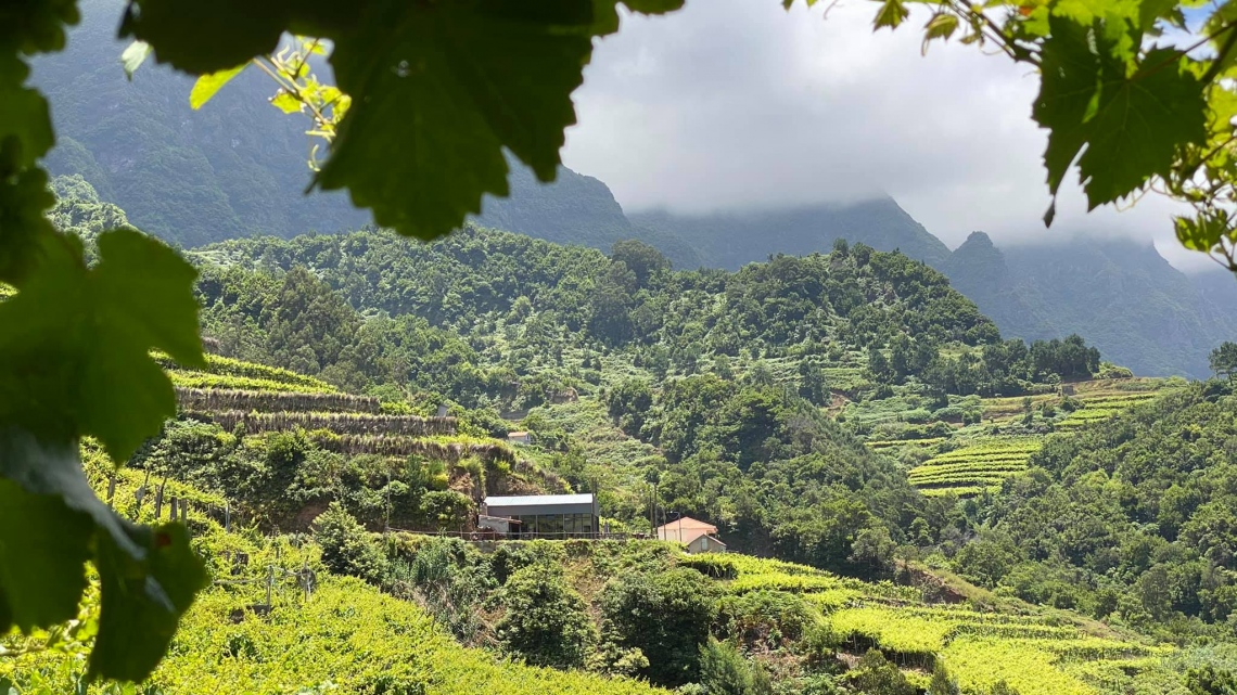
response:
M481 502L489 528L506 526L507 538L593 538L597 532L597 500L585 495L490 496Z

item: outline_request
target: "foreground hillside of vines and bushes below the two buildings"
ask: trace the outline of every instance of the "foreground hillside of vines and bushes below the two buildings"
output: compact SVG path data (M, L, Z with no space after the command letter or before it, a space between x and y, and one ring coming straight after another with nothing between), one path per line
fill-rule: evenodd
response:
M95 480L101 492L106 479ZM140 471L125 471L111 500L151 521L157 507L142 505L142 486ZM214 585L146 693L656 695L668 690L648 680L689 680L737 683L732 693L752 695L881 695L889 690L880 683L914 693L935 678L966 693L1004 684L1013 690L1003 693L1098 695L1188 686L1181 664L1225 654L1157 646L1068 611L943 584L919 566L894 585L737 554L684 555L654 540L479 548L367 534L336 512L312 535L255 538L204 513L224 498L167 491L189 501L186 521ZM98 610L88 600L78 625ZM0 684L72 690L89 642L77 625L0 638Z

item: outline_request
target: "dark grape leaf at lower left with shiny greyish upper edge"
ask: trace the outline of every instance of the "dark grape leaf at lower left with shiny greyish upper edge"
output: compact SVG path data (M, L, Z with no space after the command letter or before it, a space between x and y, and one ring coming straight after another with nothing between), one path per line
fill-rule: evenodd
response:
M87 559L103 594L90 674L141 680L207 581L186 529L118 517L90 490L77 444L0 429L0 632L74 617Z

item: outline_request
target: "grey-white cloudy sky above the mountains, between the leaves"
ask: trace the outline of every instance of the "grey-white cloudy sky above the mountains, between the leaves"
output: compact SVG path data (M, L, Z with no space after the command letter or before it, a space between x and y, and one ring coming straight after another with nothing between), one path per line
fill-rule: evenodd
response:
M626 17L575 94L564 163L627 210L883 192L951 247L974 230L997 244L1119 234L1154 240L1178 267L1210 263L1178 246L1166 200L1086 214L1076 176L1044 229L1045 135L1027 67L956 42L922 57L925 15L873 35L875 2L841 0L828 19L826 2L781 5L688 0L666 17Z

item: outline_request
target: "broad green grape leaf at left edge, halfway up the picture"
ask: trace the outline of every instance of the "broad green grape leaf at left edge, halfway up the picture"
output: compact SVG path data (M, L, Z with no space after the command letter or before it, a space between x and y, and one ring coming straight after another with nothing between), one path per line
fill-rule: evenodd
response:
M93 435L122 461L176 414L148 350L202 365L195 271L137 231L99 235L94 268L80 241L45 236L38 272L0 304L0 423L43 441Z

